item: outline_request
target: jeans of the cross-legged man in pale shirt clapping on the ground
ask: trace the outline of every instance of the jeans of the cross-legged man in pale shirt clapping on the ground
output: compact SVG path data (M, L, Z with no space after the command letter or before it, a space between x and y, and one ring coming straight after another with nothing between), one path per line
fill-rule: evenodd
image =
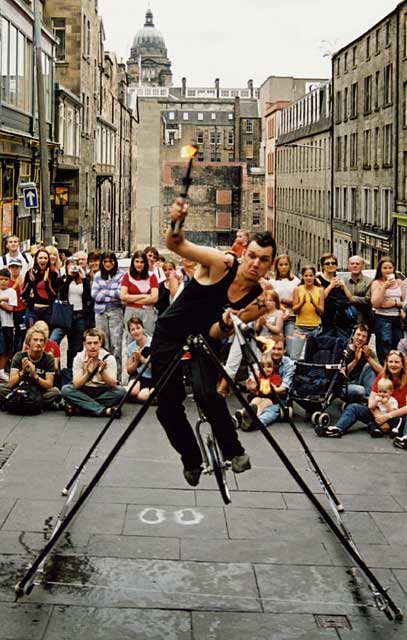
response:
M127 391L124 387L82 387L65 384L61 389L63 399L89 415L100 416L106 407L119 404Z

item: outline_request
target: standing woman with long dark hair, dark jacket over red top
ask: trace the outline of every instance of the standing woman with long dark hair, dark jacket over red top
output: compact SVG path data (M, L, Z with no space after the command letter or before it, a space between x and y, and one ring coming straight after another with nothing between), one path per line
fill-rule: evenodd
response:
M52 303L57 297L58 286L58 273L51 268L48 251L38 249L32 269L25 274L21 294L27 304L25 313L27 329L37 320L44 320L50 326Z

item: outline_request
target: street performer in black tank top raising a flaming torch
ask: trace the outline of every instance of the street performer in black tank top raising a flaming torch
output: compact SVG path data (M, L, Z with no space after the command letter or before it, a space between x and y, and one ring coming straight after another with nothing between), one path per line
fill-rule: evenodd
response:
M201 247L186 240L183 225L188 205L177 198L170 210L166 235L168 249L198 263L195 274L179 297L159 316L151 345L153 380L156 384L189 335L201 334L217 349L219 339L233 331L231 310L243 322L256 320L265 312L259 280L270 269L276 244L268 232L255 234L240 262L232 254ZM175 235L176 221L180 223ZM191 362L194 396L212 425L225 459L235 473L250 469L250 458L237 437L225 399L216 391L218 372L210 357L200 352ZM157 417L174 449L181 455L184 477L197 486L202 455L183 406L185 390L181 363L158 396Z

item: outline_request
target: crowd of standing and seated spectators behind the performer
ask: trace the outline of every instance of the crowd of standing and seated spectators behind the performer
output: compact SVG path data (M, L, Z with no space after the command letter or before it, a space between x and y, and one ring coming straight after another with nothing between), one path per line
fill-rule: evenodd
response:
M240 229L231 248L237 257L248 239ZM156 318L188 286L195 263L183 259L177 265L146 247L134 252L124 271L112 251L65 252L64 260L61 253L50 246L31 256L20 250L16 236L6 242L0 258L0 406L7 408L8 396L23 383L41 394L43 408L64 405L68 415L111 415L126 393L130 400L146 401ZM266 308L253 335L268 347L263 356L257 351L263 367L259 380L246 381L251 407L265 426L278 420L280 407L265 383L284 402L309 336L342 337L346 407L335 425L318 426L317 435L340 437L361 421L373 437L388 433L407 449L404 281L390 257L379 261L372 279L363 274L360 256L349 259L343 277L332 253L321 256L318 266L304 265L296 275L290 257L279 255L262 281ZM70 309L66 324L55 319L57 305ZM257 340L252 344L258 349ZM235 377L242 364L236 340L228 353L226 370ZM267 380L261 379L264 374ZM218 391L227 394L224 380ZM235 422L244 430L253 427L245 411L236 413Z

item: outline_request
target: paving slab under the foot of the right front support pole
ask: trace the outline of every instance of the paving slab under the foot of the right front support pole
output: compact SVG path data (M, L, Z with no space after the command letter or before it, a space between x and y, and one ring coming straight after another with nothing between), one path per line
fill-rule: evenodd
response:
M255 572L265 611L383 615L375 608L366 582L347 567L255 565ZM397 606L405 609L406 594L391 572L379 569L376 575L385 588L390 587Z

